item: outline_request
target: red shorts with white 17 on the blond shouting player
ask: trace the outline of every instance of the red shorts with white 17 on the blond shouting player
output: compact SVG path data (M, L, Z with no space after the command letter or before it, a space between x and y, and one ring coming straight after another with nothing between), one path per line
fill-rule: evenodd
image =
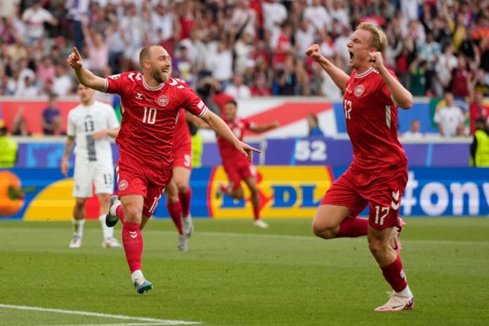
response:
M346 170L327 190L321 204L346 206L351 217L370 206L368 222L376 229L398 226L400 198L408 183L408 170L365 174Z

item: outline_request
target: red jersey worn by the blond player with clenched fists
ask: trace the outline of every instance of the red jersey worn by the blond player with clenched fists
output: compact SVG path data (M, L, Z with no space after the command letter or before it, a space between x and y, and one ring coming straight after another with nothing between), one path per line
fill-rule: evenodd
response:
M396 77L391 70L389 73ZM377 70L353 71L346 83L343 109L353 145L353 169L376 174L407 167L398 141L398 107Z

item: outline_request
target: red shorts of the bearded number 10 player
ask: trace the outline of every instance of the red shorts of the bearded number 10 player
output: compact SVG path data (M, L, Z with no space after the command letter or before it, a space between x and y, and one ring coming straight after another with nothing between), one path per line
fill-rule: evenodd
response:
M148 169L140 164L117 163L117 190L119 199L126 195L144 197L143 216L152 216L164 188L173 174L172 169Z

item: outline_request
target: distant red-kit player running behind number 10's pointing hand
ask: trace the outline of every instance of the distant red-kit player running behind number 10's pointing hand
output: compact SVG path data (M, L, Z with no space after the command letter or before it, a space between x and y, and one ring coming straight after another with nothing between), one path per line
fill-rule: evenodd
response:
M236 111L237 103L235 100L228 100L224 104L224 121L240 141L242 141L244 131L246 130L261 133L279 126L278 122L257 126L248 119L237 117ZM244 181L252 194L254 226L268 228L268 224L260 219L260 198L256 186L256 173L252 162L243 159L242 155L239 155L239 152L221 136L218 136L217 144L219 145L219 152L221 152L223 167L228 176L229 185L220 185L216 195L219 197L222 193L225 193L236 200L242 200L243 190L241 188L241 181Z

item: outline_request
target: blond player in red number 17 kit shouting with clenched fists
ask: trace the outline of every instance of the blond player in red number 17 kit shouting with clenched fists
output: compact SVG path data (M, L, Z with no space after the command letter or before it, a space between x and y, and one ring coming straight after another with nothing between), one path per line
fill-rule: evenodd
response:
M358 25L348 42L351 76L322 56L318 44L306 51L344 92L346 130L353 145L353 162L327 190L313 232L324 239L367 235L370 252L393 288L389 301L375 311L402 311L414 307L414 297L398 250L408 159L398 141L397 121L398 107L411 107L412 95L384 66L386 44L377 25ZM368 219L358 218L367 205Z

